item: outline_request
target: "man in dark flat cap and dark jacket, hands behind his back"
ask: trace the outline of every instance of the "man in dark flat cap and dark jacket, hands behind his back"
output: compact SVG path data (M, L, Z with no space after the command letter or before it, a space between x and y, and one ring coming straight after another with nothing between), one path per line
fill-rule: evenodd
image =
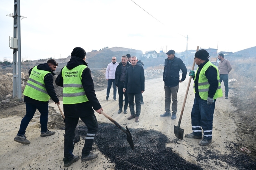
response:
M165 113L161 114L161 117L171 116L171 97L172 97L172 117L176 119L177 113L177 93L179 89L179 83L186 79L187 68L180 58L175 56L174 50L169 50L167 58L164 61L164 92L165 92ZM182 70L182 78L180 79L180 70Z

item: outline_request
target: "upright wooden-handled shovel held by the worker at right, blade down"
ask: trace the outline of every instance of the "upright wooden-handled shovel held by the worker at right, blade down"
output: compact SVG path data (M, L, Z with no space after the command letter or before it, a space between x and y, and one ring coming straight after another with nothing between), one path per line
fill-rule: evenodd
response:
M198 49L199 49L199 46L197 46L196 51L198 51ZM195 60L193 62L193 66L192 66L191 70L194 70L194 67L195 67ZM190 79L188 80L187 91L186 91L186 94L185 94L185 98L184 98L184 102L183 102L183 106L182 106L182 110L181 110L181 115L180 115L180 119L179 119L179 122L178 122L178 126L174 125L174 134L175 134L175 136L177 138L179 138L181 140L183 139L184 129L180 128L180 125L181 125L181 119L182 119L183 111L184 111L186 100L187 100L187 93L188 93L188 90L190 89L191 79L192 79L192 76L190 76Z

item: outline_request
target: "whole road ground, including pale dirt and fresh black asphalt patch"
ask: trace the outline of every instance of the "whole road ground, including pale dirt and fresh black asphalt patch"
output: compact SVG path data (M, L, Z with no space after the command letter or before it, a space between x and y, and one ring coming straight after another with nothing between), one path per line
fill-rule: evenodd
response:
M99 81L100 82L100 81ZM180 83L178 92L178 114L182 108L188 79ZM223 84L222 84L223 85ZM13 141L20 121L25 114L25 105L0 109L0 165L1 169L255 169L256 135L248 132L245 120L240 120L243 112L237 108L238 95L230 90L228 100L219 98L213 121L213 142L205 147L198 145L199 139L175 137L173 127L178 118L160 117L164 113L164 90L162 78L145 81L140 122L127 120L128 114L117 114L118 101L106 101L106 89L96 89L96 95L105 113L122 126L129 127L134 140L134 151L126 141L125 134L106 117L96 113L99 132L95 138L93 152L99 157L94 161L73 163L63 167L64 123L58 107L49 105L49 129L56 132L53 136L40 137L40 113L37 111L27 128L29 145ZM224 86L223 86L224 88ZM110 94L113 94L111 89ZM61 98L60 98L61 99ZM191 84L181 122L184 134L191 133L190 113L193 106L193 86ZM237 102L236 102L237 101ZM61 104L62 105L62 104ZM81 155L86 127L79 121L81 140L75 144L74 154ZM8 142L6 142L8 141ZM240 148L247 147L250 154Z

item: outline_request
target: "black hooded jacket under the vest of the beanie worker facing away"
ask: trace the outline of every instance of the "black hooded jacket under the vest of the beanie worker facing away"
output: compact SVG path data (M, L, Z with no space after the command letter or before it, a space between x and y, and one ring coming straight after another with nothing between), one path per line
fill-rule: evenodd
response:
M79 57L71 57L70 61L67 63L66 67L71 70L79 65L87 66L87 63L79 58ZM62 68L63 69L63 68ZM61 72L62 72L61 69ZM63 77L60 74L58 75L55 83L58 86L63 87ZM64 114L68 117L84 117L91 114L94 114L92 107L94 110L99 110L101 108L100 102L98 101L95 91L94 91L94 83L92 79L92 73L90 68L85 68L82 72L82 85L88 98L88 102L77 103L77 104L63 104Z

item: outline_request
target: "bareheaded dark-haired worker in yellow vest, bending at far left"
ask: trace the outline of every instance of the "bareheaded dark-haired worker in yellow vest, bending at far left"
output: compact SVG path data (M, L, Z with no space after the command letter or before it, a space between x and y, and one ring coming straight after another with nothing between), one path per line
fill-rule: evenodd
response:
M14 141L30 144L30 141L26 139L25 132L37 109L40 112L40 136L51 136L55 133L47 129L47 123L49 99L52 98L55 104L60 104L53 85L53 76L55 75L53 71L56 70L57 66L58 63L50 59L47 63L39 64L29 70L29 80L23 92L26 115L21 120L20 129Z

